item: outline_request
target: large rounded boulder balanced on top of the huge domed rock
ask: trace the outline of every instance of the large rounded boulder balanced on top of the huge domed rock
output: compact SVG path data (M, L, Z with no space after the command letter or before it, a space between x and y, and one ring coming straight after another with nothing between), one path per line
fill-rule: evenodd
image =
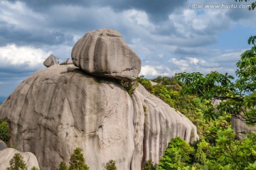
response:
M141 60L116 30L100 29L85 34L73 47L75 66L100 77L125 81L137 78Z

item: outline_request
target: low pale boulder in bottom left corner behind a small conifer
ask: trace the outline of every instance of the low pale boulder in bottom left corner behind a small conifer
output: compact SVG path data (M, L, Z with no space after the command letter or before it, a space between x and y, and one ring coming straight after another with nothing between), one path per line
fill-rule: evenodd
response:
M10 167L10 160L14 157L14 154L19 153L23 157L23 161L31 169L33 166L39 169L36 156L31 152L18 152L13 148L6 148L0 151L0 170L6 170Z

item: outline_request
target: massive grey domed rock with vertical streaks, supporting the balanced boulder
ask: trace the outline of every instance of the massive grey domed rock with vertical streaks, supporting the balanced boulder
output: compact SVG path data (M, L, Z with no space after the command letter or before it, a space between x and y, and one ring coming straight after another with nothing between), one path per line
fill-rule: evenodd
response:
M198 140L196 127L143 86L132 96L114 79L95 79L69 65L53 65L23 81L2 104L11 145L33 152L42 169L68 163L80 147L90 169L110 159L122 170L158 162L171 138Z

